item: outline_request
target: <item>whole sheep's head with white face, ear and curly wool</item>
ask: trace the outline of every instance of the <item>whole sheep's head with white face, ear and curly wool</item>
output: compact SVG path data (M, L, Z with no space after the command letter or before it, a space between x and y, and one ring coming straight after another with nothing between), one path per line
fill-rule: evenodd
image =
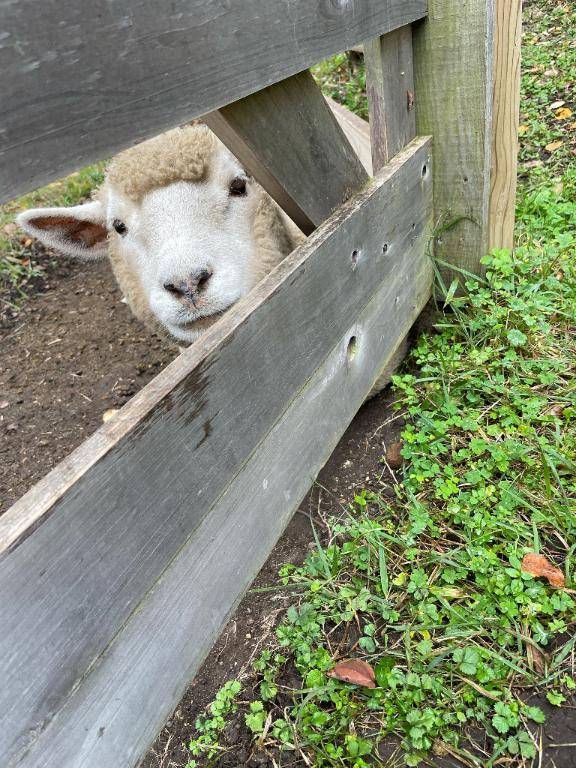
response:
M140 147L119 155L90 203L19 217L29 233L68 255L89 259L109 253L134 313L181 345L194 341L249 291L257 258L253 232L262 191L206 131L171 132L165 135L175 137L168 149L159 137L140 145L148 155ZM191 138L194 147L204 145L196 165L188 162L179 174L186 149L182 137ZM156 158L159 141L164 143ZM129 154L136 152L141 154ZM164 168L158 169L156 160ZM137 194L115 181L129 177L134 167L136 182L144 168ZM154 185L156 178L162 183Z

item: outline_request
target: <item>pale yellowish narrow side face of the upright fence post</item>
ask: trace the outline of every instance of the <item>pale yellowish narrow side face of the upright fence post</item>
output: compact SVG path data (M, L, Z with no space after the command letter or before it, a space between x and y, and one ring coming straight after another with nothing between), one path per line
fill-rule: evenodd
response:
M496 0L488 247L514 247L522 0Z

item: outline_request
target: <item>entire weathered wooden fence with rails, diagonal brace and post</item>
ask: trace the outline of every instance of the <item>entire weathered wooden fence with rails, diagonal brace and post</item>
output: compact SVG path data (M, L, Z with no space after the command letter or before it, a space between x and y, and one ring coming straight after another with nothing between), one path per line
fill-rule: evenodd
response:
M468 269L505 244L494 10L0 0L2 199L206 116L310 233L0 518L3 768L138 763L428 301L435 224ZM374 178L305 72L363 41Z

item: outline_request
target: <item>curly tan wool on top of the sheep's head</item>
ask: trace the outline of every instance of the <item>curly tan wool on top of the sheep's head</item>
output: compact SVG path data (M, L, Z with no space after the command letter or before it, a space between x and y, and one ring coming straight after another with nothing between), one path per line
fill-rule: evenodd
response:
M206 178L217 146L218 139L206 126L175 128L116 155L106 178L120 193L138 202L153 189L175 181Z

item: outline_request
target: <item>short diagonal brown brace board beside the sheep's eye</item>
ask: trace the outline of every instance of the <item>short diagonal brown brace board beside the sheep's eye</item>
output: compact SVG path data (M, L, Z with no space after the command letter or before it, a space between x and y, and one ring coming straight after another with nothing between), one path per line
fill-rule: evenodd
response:
M204 121L306 234L368 181L308 71Z

